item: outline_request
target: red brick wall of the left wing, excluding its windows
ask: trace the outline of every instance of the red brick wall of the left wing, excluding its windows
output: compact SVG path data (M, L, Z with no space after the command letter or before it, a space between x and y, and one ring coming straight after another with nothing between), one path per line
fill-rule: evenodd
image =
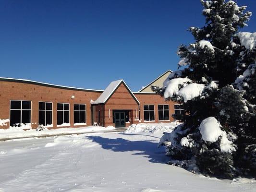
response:
M32 101L31 123L38 123L38 102L52 102L53 127L57 127L57 103L70 104L70 125L73 127L73 104L86 104L86 124L91 125L90 99L96 100L101 92L77 91L36 84L0 81L0 119L10 119L10 100ZM75 96L71 99L71 96ZM37 128L33 124L32 128ZM79 127L79 126L75 126ZM0 128L9 128L2 126Z

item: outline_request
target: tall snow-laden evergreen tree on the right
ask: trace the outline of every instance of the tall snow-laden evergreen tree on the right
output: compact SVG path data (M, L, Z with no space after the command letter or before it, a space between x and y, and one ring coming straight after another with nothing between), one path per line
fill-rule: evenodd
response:
M165 133L169 164L210 176L256 173L256 33L238 33L252 15L229 0L201 0L206 25L190 27L178 69L152 87L183 103L183 124ZM194 168L192 168L194 166Z

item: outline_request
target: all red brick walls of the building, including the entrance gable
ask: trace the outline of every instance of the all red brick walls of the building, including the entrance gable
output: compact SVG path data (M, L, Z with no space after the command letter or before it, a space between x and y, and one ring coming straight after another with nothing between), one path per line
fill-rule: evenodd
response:
M0 81L0 119L10 119L10 100L28 100L32 101L31 105L31 123L32 128L38 127L38 102L52 102L52 112L53 112L53 128L57 128L57 103L69 103L70 104L70 125L71 127L79 127L73 125L73 104L86 104L86 125L92 125L92 111L90 100L96 100L102 92L93 91L80 91L80 90L70 90L65 88L49 87L47 85L38 84L27 84L27 83L17 83L17 82L5 82ZM174 113L174 103L171 101L165 101L164 98L155 94L143 94L135 93L136 98L140 102L140 119L144 122L144 112L143 105L154 105L155 106L155 121L158 121L158 104L168 104L170 121L171 114ZM75 96L71 99L71 96ZM112 112L114 109L119 110L130 110L130 123L126 123L129 126L132 123L139 123L136 119L139 117L139 106L130 92L127 90L125 85L122 83L114 94L110 97L105 105L96 105L96 111L94 114L94 121L98 122L98 110L101 111L101 125L109 126L113 125ZM110 110L110 118L109 118ZM104 117L104 120L103 120ZM81 126L80 126L81 127ZM2 126L0 128L9 128L9 123L7 126Z

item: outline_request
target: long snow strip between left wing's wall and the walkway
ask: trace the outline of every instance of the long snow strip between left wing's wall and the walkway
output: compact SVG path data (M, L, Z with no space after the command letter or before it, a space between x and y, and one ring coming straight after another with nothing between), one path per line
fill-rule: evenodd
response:
M48 130L45 128L42 131L36 131L35 129L30 129L24 131L22 128L19 127L10 127L9 129L0 129L0 139L6 138L20 138L20 137L37 137L37 136L50 136L56 135L61 133L86 133L86 132L102 132L105 130L115 130L113 126L109 127L100 127L100 126L87 126L87 127L80 127L80 128L58 128L58 129L51 129Z

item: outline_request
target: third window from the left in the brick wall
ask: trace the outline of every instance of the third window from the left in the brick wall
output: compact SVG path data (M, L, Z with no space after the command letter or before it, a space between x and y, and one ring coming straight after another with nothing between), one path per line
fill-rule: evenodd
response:
M69 124L69 103L57 103L57 125Z

